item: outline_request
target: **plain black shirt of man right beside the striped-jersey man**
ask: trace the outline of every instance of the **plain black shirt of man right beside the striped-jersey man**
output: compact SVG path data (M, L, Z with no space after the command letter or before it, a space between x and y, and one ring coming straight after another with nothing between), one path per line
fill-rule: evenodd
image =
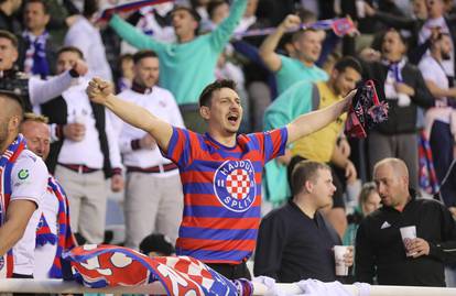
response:
M341 244L319 212L314 219L293 201L267 215L260 224L254 275L281 283L336 279L333 246Z

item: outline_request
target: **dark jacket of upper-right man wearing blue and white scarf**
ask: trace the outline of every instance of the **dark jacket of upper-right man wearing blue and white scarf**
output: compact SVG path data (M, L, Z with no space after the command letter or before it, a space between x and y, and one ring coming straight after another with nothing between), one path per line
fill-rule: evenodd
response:
M388 66L380 62L365 63L365 78L379 81L380 94L384 94L384 81L388 75ZM430 108L434 106L434 98L427 89L423 76L417 67L406 63L402 68L404 84L415 90L411 97L412 103L408 107L399 107L398 100L388 100L390 106L388 121L378 124L374 129L382 134L401 134L416 132L416 107ZM383 96L384 97L384 96Z

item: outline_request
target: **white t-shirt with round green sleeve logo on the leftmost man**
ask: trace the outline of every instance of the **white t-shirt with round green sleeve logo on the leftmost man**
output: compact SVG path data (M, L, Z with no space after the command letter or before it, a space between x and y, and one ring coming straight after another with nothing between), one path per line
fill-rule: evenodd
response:
M41 157L24 150L11 169L10 202L26 199L40 207L46 194L47 176L47 167ZM36 226L40 221L40 215L41 211L35 210L22 239L13 246L13 272L17 274L31 275L33 273Z

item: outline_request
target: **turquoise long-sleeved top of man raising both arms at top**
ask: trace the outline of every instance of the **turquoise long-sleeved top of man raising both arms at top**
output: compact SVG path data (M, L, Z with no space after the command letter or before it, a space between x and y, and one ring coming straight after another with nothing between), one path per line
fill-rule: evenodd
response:
M162 43L150 37L118 15L109 25L139 50L152 50L160 58L160 86L173 92L178 105L197 103L202 90L215 80L217 59L228 43L247 0L236 0L229 17L211 33L186 43Z

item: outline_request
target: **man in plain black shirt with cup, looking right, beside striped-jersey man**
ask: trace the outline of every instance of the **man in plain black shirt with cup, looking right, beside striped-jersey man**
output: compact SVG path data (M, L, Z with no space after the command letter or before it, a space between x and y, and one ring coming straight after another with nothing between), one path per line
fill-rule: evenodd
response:
M336 281L333 248L341 241L321 213L333 204L336 187L332 169L323 163L302 161L295 165L291 183L293 199L261 220L254 274L280 283ZM346 265L352 265L352 249Z

